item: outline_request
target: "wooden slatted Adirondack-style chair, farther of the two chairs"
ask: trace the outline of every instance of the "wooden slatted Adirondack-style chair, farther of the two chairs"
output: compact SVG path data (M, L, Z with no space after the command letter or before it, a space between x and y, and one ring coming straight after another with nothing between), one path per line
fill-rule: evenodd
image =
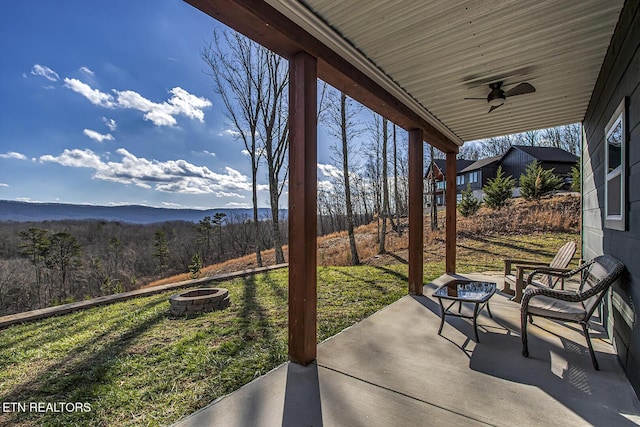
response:
M556 272L566 273L570 271L567 268L573 255L576 253L576 242L567 242L553 257L550 263L546 263L540 260L523 260L523 259L505 259L504 260L504 288L503 292L514 295L513 301L520 302L522 300L522 290L524 289L525 282L527 281L527 271L546 267ZM513 271L515 269L515 271ZM543 280L538 281L538 284L546 285L549 287L555 287L560 282L562 289L564 289L564 279L554 278L547 275ZM511 289L513 286L515 289Z

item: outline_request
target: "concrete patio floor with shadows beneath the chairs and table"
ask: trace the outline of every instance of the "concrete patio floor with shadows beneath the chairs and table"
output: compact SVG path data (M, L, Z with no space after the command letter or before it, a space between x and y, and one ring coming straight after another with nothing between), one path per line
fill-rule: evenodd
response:
M638 398L598 325L600 371L579 327L545 319L529 328L522 357L519 304L499 293L493 319L478 318L480 343L467 319L447 317L438 336L431 294L447 278L322 342L315 363L283 364L176 425L640 425Z

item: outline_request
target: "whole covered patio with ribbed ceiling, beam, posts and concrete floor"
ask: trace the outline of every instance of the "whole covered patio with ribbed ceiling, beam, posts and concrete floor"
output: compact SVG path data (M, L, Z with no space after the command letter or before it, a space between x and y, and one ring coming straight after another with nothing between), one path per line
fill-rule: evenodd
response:
M592 332L599 372L580 330L551 321L531 328L523 358L519 305L504 295L491 300L494 319L480 316L480 343L464 319L448 318L438 336L431 293L448 276L425 285L422 266L424 142L456 170L467 141L584 121L600 100L592 96L606 96L598 86L605 56L615 64L612 35L619 22L629 25L636 0L186 1L289 60L290 362L178 425L640 423L640 404L603 329ZM318 78L409 139L409 295L321 344ZM510 89L523 83L535 90L516 98ZM455 174L446 180L443 273L453 275Z

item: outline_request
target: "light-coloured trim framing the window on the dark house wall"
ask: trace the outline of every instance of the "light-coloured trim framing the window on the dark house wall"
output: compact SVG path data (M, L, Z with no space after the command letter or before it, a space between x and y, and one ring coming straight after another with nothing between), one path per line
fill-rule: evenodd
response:
M604 128L604 218L605 228L625 231L627 228L627 109L626 97L622 99L618 108L609 119ZM618 122L622 125L622 142L620 144L620 166L609 172L609 143L608 138L611 131L615 129ZM620 214L609 214L609 183L620 177Z

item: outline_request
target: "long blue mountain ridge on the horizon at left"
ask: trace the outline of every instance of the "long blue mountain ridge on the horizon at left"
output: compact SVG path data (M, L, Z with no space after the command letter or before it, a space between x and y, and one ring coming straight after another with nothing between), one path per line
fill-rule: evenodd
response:
M0 200L0 221L40 222L55 220L99 219L132 224L152 224L166 221L188 221L196 223L205 216L225 213L229 217L253 217L251 209L165 209L149 206L94 206L65 203L27 203ZM286 215L286 210L282 211ZM260 219L271 216L270 209L259 209Z

